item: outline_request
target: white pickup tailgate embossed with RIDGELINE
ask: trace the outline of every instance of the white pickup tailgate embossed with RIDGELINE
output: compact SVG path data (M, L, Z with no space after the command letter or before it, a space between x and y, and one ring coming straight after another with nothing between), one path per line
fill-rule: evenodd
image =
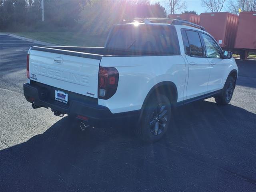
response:
M68 51L61 52L63 54L31 49L29 52L30 80L98 98L98 71L101 56L86 57L83 53L72 56Z

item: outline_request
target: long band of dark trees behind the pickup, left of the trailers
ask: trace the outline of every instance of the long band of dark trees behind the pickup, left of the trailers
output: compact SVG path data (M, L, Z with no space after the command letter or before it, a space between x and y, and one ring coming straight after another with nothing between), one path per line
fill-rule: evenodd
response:
M1 30L87 31L106 33L113 24L137 17L166 17L160 3L129 0L0 0Z

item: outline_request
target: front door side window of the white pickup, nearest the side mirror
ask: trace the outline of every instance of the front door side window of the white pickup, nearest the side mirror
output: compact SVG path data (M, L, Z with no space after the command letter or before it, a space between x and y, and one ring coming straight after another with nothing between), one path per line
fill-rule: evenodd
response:
M206 47L206 56L211 58L220 58L220 49L218 44L210 36L202 33Z

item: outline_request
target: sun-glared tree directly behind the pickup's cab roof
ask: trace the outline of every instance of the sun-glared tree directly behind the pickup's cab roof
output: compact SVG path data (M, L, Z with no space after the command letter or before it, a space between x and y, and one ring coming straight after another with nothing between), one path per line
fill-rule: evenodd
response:
M149 1L93 1L81 12L80 30L102 34L123 19L133 21L142 17L166 17L165 8Z

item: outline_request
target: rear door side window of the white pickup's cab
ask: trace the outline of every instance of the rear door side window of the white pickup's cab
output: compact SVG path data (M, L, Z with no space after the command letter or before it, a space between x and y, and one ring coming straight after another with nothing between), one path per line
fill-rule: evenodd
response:
M203 57L203 48L200 40L199 33L196 31L186 30L186 34L188 37L190 56L192 57ZM186 48L186 52L188 48Z

